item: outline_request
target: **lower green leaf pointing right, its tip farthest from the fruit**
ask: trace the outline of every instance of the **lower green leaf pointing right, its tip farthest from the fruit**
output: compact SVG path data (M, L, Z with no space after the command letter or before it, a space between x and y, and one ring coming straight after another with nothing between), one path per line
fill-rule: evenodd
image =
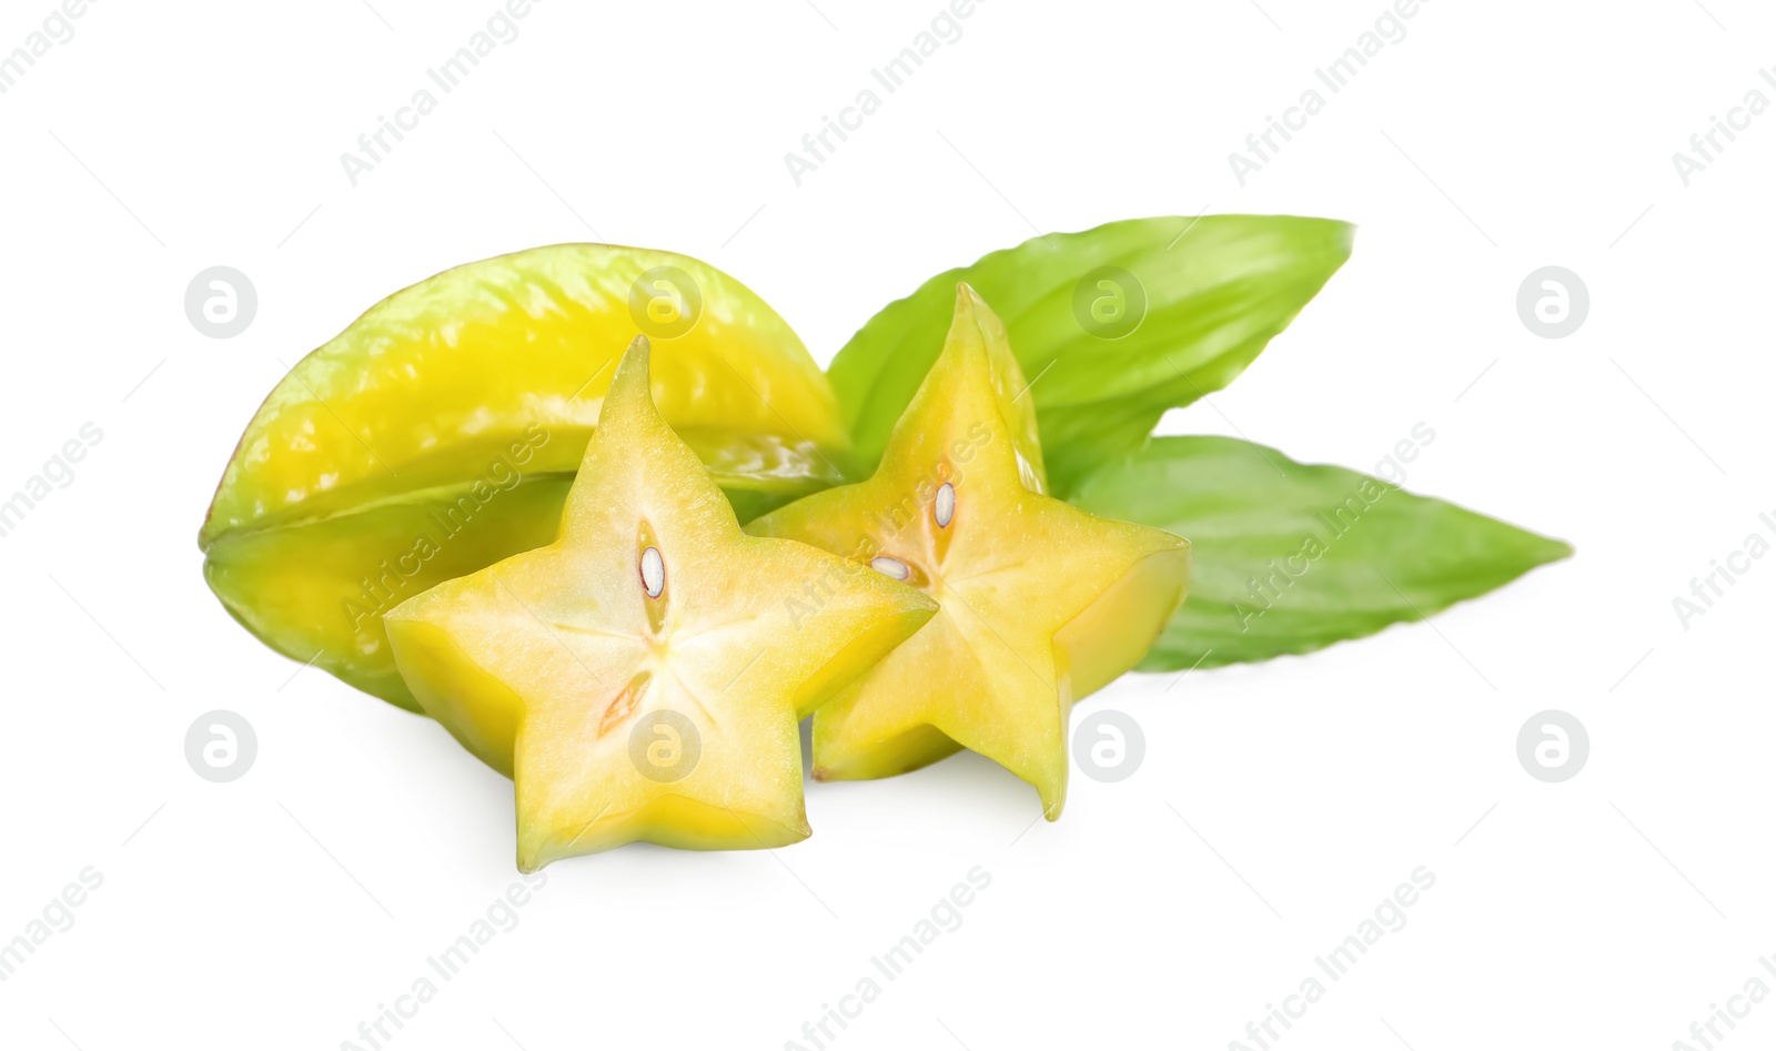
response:
M1423 446L1435 431L1414 439ZM1307 653L1572 554L1559 540L1236 439L1154 439L1092 474L1073 502L1190 540L1190 597L1142 671Z

